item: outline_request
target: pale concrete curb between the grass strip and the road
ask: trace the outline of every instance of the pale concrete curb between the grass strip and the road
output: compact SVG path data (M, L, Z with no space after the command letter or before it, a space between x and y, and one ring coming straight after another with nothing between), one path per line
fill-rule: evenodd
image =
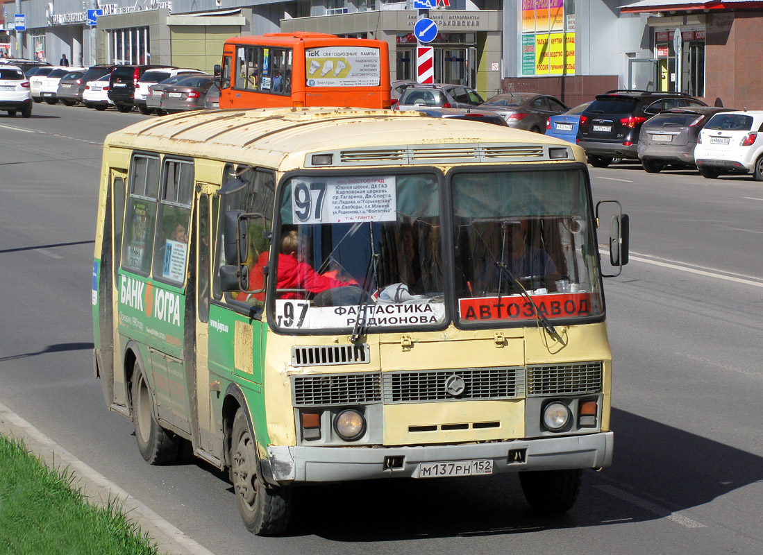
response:
M214 555L2 403L0 434L24 441L27 449L40 457L49 468L56 471L68 469L73 478L72 486L79 488L93 505L105 506L110 499L116 501L127 518L139 525L141 532L149 535L160 552L167 555Z

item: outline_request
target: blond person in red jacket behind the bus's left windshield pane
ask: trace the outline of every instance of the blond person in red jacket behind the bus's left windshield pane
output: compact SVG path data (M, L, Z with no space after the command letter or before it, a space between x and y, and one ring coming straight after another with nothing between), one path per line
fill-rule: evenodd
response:
M307 262L300 261L300 242L295 229L286 233L278 255L278 278L275 288L298 289L279 294L281 299L303 299L304 291L311 294L322 293L335 287L357 285L356 281L339 281L325 274L318 274Z

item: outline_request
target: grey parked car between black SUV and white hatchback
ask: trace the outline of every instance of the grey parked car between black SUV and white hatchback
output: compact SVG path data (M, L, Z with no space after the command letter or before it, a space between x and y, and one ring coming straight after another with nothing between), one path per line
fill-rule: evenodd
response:
M696 166L694 147L700 131L714 114L732 108L694 106L672 108L646 120L639 134L639 160L648 173L666 164Z

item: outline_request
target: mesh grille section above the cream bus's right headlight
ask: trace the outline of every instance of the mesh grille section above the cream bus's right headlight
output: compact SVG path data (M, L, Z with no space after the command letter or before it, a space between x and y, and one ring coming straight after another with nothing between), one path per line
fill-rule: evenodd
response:
M600 361L528 366L527 396L600 393L601 374Z

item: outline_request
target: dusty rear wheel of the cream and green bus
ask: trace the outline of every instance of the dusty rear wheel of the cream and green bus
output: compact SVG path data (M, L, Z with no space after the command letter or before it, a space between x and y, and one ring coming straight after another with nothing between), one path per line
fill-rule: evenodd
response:
M146 374L137 361L133 371L132 404L135 439L143 459L148 464L175 462L180 440L159 425Z

